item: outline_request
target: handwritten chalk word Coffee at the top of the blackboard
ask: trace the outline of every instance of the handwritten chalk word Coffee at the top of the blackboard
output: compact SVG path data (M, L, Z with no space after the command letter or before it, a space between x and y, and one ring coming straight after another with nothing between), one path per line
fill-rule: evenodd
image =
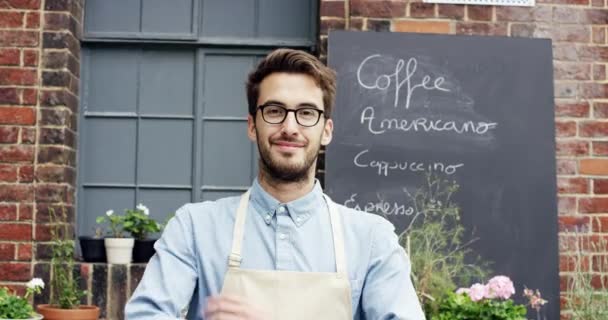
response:
M391 73L391 74L382 74L380 76L378 76L376 78L375 81L372 81L371 83L368 83L366 81L363 81L363 79L361 79L361 74L365 73L363 72L363 68L364 66L366 66L366 64L370 63L370 61L382 57L380 54L373 54L365 59L363 59L363 61L361 62L361 64L359 64L359 67L357 68L357 81L359 82L359 85L365 89L369 89L369 90L382 90L382 91L386 91L388 90L391 86L394 87L395 89L395 97L393 99L394 102L394 106L395 108L399 105L399 93L401 92L401 88L403 86L406 86L407 91L405 93L405 109L409 109L410 108L410 102L412 100L412 95L414 94L414 91L416 91L416 89L424 89L427 91L432 91L432 90L439 90L439 91L444 91L444 92L450 92L450 90L448 88L444 88L442 87L443 83L445 82L445 78L444 77L437 77L434 81L432 81L431 84L431 76L429 75L424 75L422 77L422 81L420 83L414 84L413 83L413 79L412 77L414 76L414 74L416 73L416 69L418 68L418 61L416 60L416 58L410 58L407 61L407 64L405 63L405 60L403 59L399 59L399 61L397 61L397 64L395 65L395 72ZM370 69L374 69L375 66L370 67ZM402 75L402 70L405 67L405 74ZM403 77L403 79L401 79L401 77Z

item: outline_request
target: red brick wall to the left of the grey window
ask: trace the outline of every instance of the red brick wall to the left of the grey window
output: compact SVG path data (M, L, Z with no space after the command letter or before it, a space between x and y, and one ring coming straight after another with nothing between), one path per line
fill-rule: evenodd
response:
M0 286L19 291L48 260L48 207L74 223L82 12L0 0Z

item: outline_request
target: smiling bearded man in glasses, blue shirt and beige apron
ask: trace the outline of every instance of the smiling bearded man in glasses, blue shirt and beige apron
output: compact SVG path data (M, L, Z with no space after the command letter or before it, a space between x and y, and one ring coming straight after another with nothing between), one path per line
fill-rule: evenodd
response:
M393 226L327 198L315 180L332 139L335 74L297 50L249 75L259 174L241 197L187 204L156 242L126 317L424 319Z

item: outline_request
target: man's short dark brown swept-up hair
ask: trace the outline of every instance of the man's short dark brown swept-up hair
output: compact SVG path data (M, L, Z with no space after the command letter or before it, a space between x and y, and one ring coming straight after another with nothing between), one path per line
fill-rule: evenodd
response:
M336 96L336 73L325 66L315 56L300 50L277 49L269 53L247 78L247 103L249 114L255 115L260 83L264 78L275 72L302 73L313 77L315 83L323 91L324 115L331 117Z

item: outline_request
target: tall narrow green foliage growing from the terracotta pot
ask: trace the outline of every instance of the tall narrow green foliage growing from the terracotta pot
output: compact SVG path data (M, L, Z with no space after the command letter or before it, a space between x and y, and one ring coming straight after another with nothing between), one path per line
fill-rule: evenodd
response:
M74 240L68 239L67 227L62 225L55 216L55 211L49 209L51 222L51 301L50 304L61 309L76 309L86 291L78 288L78 277L74 277ZM67 222L65 208L62 210L62 220ZM63 228L63 230L62 230Z

